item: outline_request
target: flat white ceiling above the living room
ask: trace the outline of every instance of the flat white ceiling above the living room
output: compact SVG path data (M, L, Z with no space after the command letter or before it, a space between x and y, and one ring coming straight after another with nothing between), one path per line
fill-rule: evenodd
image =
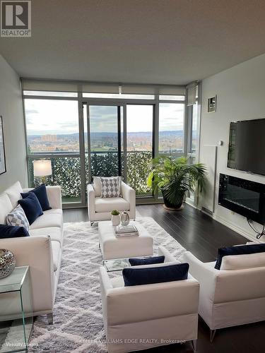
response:
M22 77L185 84L265 52L264 0L33 0L1 38Z

